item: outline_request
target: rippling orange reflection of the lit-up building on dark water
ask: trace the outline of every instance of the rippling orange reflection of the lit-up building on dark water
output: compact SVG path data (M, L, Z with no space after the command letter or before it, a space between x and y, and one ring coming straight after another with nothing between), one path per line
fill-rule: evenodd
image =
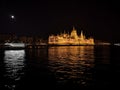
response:
M93 81L94 46L49 47L48 60L58 84L88 86Z

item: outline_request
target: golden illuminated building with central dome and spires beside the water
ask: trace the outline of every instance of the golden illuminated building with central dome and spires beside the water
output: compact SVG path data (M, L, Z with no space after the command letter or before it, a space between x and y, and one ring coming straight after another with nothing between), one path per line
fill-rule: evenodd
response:
M77 30L73 27L71 34L62 33L60 35L50 35L48 38L49 45L94 45L93 38L86 38L83 32L77 34Z

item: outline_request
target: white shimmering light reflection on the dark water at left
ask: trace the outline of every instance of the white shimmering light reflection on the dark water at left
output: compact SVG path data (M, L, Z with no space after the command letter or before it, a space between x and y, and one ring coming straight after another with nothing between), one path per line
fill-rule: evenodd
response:
M22 71L24 68L25 51L24 50L5 50L5 87L14 90L17 81L24 75Z

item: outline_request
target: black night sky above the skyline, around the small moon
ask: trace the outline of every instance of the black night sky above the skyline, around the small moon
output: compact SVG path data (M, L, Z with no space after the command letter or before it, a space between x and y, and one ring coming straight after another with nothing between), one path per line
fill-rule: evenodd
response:
M39 2L38 2L39 1ZM0 33L39 35L70 32L72 27L95 39L120 42L120 3L91 0L3 0ZM15 15L12 20L10 15Z

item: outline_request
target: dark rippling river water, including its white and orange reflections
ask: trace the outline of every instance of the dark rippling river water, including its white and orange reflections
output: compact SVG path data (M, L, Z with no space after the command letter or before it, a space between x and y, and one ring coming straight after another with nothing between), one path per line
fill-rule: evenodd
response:
M0 50L0 90L120 87L120 47Z

